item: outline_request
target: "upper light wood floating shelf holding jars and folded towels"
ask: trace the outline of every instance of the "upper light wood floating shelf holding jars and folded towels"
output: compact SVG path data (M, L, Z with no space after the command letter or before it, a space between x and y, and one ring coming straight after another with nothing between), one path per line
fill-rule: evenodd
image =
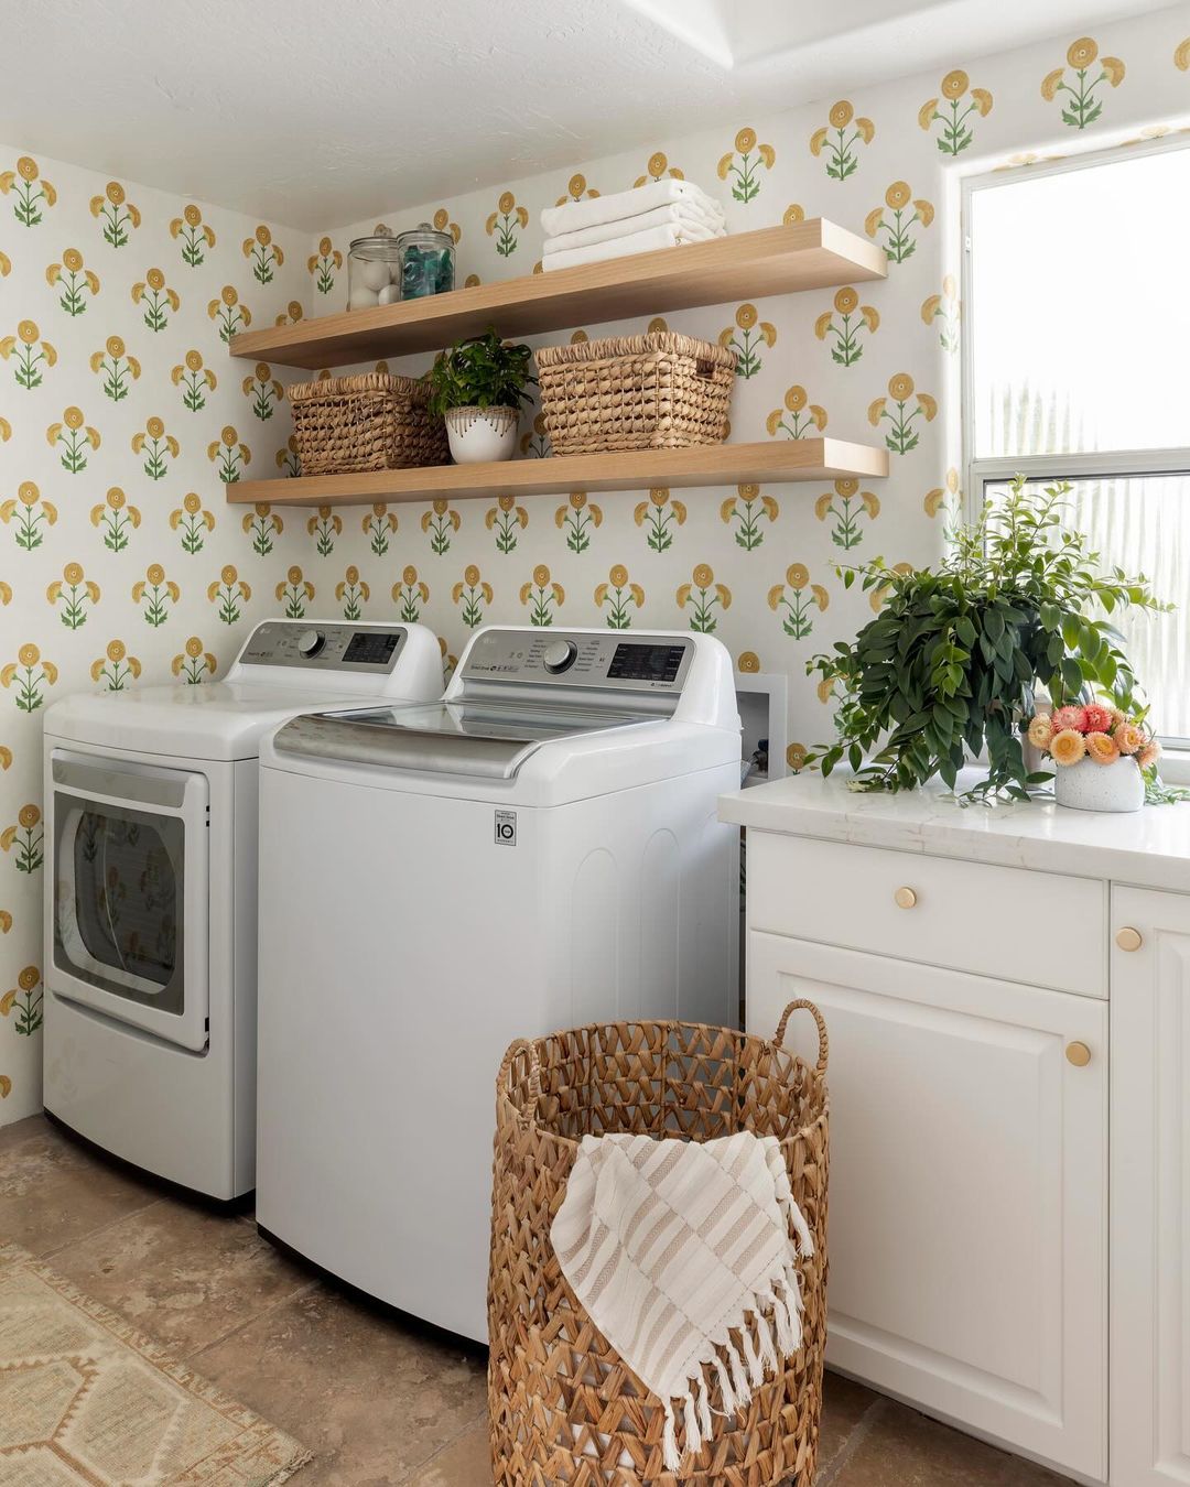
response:
M887 272L881 247L814 217L607 263L476 284L378 309L250 330L232 339L231 352L250 361L318 370L439 351L488 326L495 326L501 336L528 336L885 278Z

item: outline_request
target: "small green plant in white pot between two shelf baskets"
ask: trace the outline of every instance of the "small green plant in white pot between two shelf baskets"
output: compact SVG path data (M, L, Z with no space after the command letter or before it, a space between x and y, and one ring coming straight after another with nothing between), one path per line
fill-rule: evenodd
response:
M457 341L428 372L430 412L446 419L457 464L509 459L516 443L533 352L500 339L489 326L482 336Z

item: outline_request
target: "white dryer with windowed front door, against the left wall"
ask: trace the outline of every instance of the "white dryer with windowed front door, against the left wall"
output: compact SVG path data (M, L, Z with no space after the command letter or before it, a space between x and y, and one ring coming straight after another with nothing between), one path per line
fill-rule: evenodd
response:
M46 709L51 1115L210 1197L251 1190L260 735L440 693L424 626L269 620L226 681Z

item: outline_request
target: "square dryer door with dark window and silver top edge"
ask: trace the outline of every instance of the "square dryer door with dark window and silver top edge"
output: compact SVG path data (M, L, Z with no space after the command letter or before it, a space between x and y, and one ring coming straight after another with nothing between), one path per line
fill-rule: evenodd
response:
M51 993L205 1048L205 775L67 749L49 767Z

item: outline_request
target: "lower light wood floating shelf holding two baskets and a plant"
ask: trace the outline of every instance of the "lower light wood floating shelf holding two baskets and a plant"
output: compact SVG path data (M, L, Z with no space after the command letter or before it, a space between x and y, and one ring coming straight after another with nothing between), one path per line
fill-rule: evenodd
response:
M888 454L843 439L781 439L763 445L699 445L632 454L561 455L495 464L424 465L237 480L228 500L238 506L370 506L373 501L466 501L491 495L558 495L570 491L649 491L699 485L766 485L782 480L860 480L888 474Z

